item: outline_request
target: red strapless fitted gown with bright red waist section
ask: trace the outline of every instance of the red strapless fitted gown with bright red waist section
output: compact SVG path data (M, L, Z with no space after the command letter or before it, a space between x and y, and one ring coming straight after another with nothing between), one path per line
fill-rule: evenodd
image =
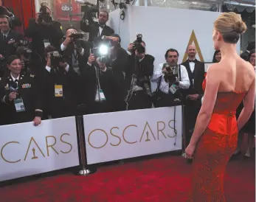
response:
M205 89L206 80L203 83ZM236 109L246 93L218 92L212 117L193 159L193 202L224 202L224 173L238 141ZM204 101L203 101L204 102Z

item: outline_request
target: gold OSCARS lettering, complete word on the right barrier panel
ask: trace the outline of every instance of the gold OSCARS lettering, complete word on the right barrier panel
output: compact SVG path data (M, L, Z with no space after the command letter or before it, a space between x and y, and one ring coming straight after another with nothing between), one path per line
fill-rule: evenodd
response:
M143 128L143 129L142 129ZM125 128L112 127L110 130L96 128L87 136L87 143L94 149L102 149L107 144L117 147L120 144L136 144L139 142L161 141L173 139L177 136L174 129L174 120L165 123L163 121L147 121L144 125L127 125Z

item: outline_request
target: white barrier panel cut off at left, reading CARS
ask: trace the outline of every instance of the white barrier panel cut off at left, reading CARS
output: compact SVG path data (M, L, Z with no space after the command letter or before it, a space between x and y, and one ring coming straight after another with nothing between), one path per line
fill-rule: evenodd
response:
M0 181L77 165L75 117L0 127Z

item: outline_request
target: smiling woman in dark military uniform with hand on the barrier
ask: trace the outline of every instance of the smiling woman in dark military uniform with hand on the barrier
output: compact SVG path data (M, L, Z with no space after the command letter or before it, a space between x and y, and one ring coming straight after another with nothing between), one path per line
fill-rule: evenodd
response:
M6 124L31 122L41 123L41 95L35 80L35 74L22 74L20 58L12 55L7 60L10 74L0 81L0 99L4 104Z

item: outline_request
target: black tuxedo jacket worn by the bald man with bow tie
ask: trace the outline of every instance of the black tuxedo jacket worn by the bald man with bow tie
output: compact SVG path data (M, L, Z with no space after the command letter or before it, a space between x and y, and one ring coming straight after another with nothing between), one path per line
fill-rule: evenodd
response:
M185 61L184 63L181 63L181 65L185 66L187 69L188 76L190 78L190 88L187 91L187 94L204 94L202 83L204 81L204 63L200 61L196 61L195 69L194 69L194 84L193 84L193 78L190 74L190 63Z

